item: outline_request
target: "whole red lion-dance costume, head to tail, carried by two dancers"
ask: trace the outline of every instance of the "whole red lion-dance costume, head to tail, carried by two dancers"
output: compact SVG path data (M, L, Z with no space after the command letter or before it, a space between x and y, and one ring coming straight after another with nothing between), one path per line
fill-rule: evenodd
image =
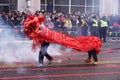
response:
M50 43L60 44L75 50L88 52L92 49L100 52L102 42L98 37L85 36L73 38L60 32L45 27L43 16L29 16L24 21L24 33L33 40L33 48L41 44L42 40Z

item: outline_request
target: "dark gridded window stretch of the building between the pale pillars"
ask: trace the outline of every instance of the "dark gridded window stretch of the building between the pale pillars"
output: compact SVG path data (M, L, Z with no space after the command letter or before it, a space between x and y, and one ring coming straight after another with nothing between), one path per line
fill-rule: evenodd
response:
M53 10L62 13L99 12L100 6L100 0L41 0L40 8L46 10L49 2L53 3Z

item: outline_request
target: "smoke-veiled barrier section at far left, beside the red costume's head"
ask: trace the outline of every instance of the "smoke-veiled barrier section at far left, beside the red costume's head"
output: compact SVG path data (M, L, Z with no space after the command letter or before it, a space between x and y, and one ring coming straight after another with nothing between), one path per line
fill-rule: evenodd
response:
M0 40L27 39L23 34L23 26L0 25Z

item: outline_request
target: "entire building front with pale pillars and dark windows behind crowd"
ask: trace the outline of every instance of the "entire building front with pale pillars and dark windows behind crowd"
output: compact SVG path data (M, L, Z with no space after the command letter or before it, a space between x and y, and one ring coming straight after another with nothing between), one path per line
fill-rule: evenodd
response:
M99 14L118 14L120 0L0 0L0 10L19 11L47 10L47 5L52 2L53 10L62 13L94 12Z

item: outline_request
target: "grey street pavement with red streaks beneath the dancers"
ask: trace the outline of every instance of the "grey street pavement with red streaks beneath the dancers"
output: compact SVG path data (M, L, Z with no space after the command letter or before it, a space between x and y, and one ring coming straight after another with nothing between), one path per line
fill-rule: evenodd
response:
M120 80L120 42L103 43L99 64L84 63L87 54L75 50L60 52L51 65L37 63L0 64L0 80ZM65 55L66 54L66 55Z

